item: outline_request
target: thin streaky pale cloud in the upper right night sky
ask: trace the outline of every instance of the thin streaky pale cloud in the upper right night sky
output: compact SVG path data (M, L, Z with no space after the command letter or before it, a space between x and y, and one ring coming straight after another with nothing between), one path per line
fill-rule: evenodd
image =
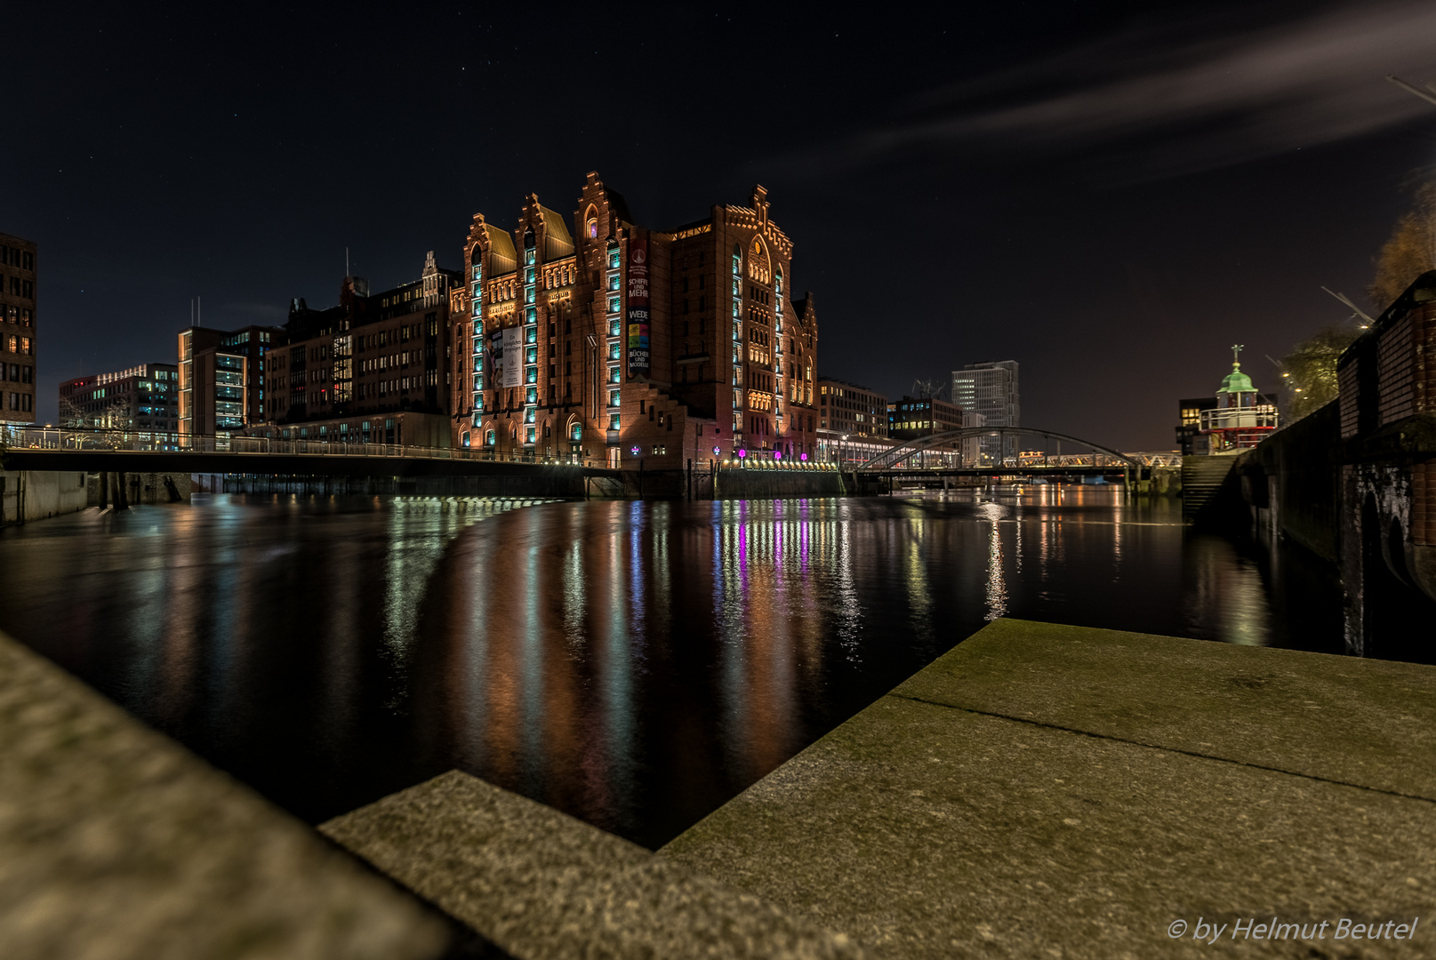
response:
M1389 73L1436 77L1436 4L1350 6L1238 32L1149 27L929 92L903 119L827 155L870 164L933 148L1109 148L1136 154L1149 175L1172 175L1423 116L1436 128L1436 106L1387 83Z

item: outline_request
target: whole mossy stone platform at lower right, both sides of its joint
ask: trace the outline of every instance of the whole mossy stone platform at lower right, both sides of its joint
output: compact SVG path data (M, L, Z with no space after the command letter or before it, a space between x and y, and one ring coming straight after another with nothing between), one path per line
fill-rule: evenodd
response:
M998 621L659 857L875 957L1436 956L1436 804L1387 792L1425 789L1433 679ZM1413 941L1192 936L1272 917L1423 920Z

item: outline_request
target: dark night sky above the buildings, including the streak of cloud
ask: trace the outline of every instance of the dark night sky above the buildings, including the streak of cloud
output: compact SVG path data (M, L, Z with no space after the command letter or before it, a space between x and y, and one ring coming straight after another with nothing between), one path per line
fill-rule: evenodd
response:
M658 230L767 187L823 376L1012 359L1024 425L1170 449L1231 343L1274 389L1265 354L1347 317L1323 284L1367 306L1436 159L1383 79L1436 79L1430 3L11 6L40 422L62 379L174 363L195 296L277 324L345 247L375 290L458 268L474 212L567 217L596 169Z

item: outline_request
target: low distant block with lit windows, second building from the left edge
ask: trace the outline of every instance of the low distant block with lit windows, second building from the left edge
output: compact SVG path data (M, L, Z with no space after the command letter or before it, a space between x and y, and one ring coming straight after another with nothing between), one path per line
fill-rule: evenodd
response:
M141 363L60 383L60 425L142 433L180 429L180 367Z

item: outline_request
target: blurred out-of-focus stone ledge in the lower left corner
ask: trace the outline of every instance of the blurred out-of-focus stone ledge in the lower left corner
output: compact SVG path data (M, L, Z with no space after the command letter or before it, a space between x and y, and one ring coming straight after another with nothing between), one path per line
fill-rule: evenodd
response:
M439 956L408 894L0 634L0 956Z

